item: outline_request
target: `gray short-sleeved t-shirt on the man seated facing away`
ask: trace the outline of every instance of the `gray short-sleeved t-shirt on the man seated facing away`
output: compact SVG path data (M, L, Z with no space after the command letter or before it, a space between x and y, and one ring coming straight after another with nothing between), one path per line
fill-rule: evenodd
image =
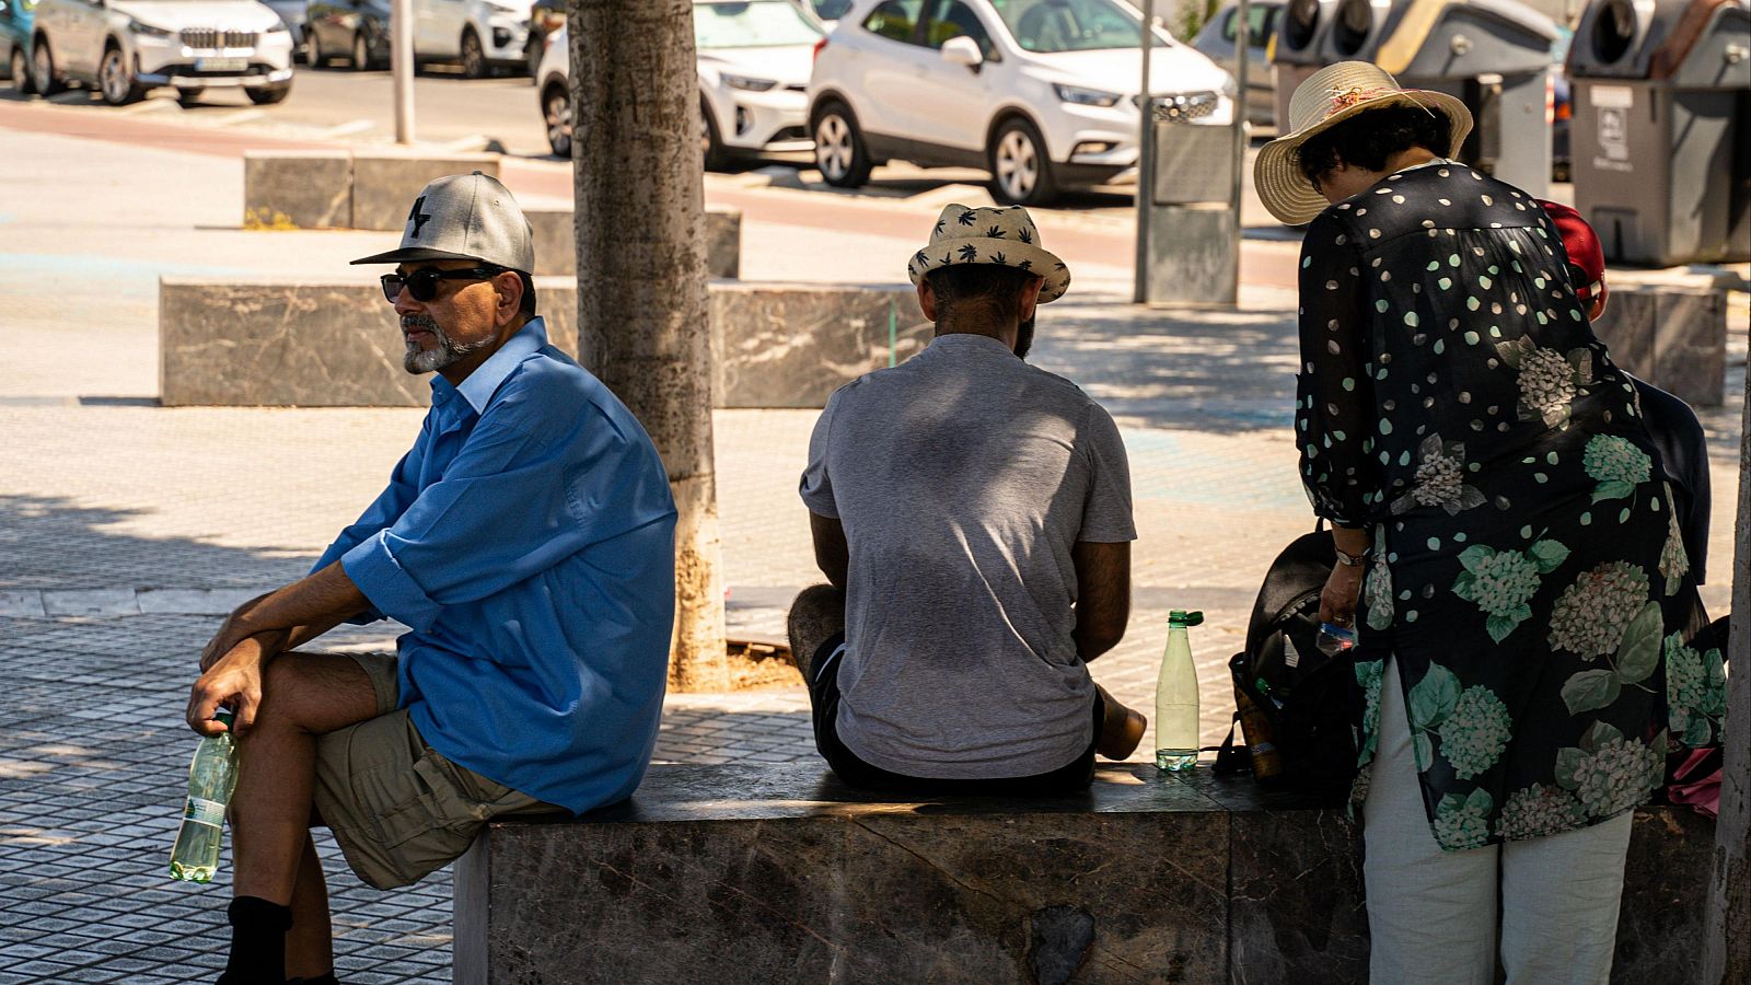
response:
M851 547L839 736L909 776L1031 776L1093 741L1077 542L1136 538L1112 417L982 335L833 394L802 501Z

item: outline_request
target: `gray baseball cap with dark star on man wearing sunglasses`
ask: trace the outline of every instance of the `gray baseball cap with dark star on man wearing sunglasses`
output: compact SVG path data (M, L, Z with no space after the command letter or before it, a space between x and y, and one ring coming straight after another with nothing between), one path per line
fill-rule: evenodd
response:
M447 175L425 186L408 210L401 247L354 263L478 259L534 273L536 242L529 219L499 179L480 172Z

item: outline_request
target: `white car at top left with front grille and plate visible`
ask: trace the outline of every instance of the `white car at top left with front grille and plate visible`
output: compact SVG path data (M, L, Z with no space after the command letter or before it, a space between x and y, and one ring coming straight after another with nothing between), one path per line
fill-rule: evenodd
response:
M277 103L292 91L292 35L256 0L42 0L32 81L42 95L96 86L110 105L158 86L175 86L182 100L240 88L254 103Z

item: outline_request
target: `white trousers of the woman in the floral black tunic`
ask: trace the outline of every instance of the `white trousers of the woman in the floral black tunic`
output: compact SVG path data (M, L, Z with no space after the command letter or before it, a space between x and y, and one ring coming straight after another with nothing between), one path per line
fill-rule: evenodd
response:
M1362 868L1375 985L1508 985L1611 978L1634 813L1546 838L1443 852L1429 831L1397 661L1380 689ZM1497 929L1501 931L1497 934Z

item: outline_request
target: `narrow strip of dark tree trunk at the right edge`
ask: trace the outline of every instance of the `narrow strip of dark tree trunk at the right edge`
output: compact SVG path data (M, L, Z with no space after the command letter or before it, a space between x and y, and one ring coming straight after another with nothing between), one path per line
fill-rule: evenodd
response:
M1739 529L1733 540L1733 622L1728 631L1726 734L1721 741L1721 817L1704 924L1705 985L1751 981L1751 366L1739 435Z

